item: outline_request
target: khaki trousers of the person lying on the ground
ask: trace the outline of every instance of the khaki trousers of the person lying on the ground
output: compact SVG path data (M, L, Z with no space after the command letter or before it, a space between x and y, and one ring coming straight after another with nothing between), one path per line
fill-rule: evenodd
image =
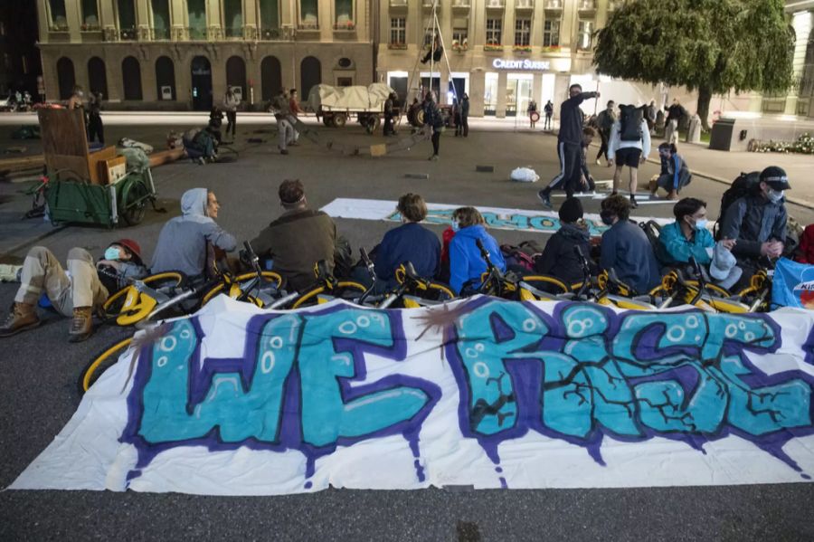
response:
M90 252L72 248L68 252L69 278L60 261L43 246L35 246L25 255L20 289L14 301L36 306L43 291L54 309L72 316L78 307L98 307L108 299L108 290L99 281Z

